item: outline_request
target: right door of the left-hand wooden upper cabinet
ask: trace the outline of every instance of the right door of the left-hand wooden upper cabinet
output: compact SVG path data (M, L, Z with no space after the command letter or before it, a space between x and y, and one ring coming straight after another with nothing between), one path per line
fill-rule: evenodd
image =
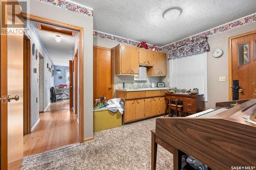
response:
M139 74L139 48L131 47L131 74Z

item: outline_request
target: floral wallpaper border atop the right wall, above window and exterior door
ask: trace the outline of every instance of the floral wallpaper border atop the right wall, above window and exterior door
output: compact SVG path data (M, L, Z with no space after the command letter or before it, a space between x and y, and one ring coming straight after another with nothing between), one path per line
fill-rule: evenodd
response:
M240 27L240 26L248 25L248 24L250 24L252 22L255 22L255 21L256 21L256 13L254 13L252 15L249 15L249 16L246 16L244 18L238 19L236 21L226 23L225 25L222 25L222 26L216 27L214 29L202 32L200 34L185 38L183 40L180 40L180 41L162 46L162 47L160 47L161 48L160 51L168 50L168 58L169 59L175 58L175 57L180 57L182 55L180 55L180 54L175 55L176 50L174 50L174 49L177 49L177 46L181 46L181 45L184 44L183 46L186 47L186 46L190 45L189 42L195 42L195 41L201 40L203 37L209 37L211 35L222 33L222 32L225 32L225 31L228 31L228 30ZM207 47L205 47L205 50L207 50Z

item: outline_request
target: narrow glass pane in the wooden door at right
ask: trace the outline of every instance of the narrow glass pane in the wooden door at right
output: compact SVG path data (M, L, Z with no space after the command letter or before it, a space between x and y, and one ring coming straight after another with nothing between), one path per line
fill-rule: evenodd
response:
M250 62L249 44L238 45L238 66L242 66Z

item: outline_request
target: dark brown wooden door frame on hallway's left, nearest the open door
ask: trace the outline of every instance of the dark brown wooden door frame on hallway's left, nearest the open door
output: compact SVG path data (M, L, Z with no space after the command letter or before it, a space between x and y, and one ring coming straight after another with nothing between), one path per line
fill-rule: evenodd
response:
M31 76L31 44L30 44L30 38L28 35L24 34L24 39L26 39L26 48L27 48L27 53L23 56L23 61L24 61L24 112L23 112L23 122L24 122L24 135L27 135L31 133L31 110L30 110L30 104L31 104L31 81L30 81L30 76ZM25 41L24 41L25 42ZM25 43L24 43L25 47ZM25 52L25 49L24 49Z

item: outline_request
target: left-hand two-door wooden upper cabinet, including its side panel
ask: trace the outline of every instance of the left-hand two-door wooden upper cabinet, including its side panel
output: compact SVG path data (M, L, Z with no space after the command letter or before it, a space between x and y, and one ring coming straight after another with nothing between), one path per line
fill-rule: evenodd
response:
M139 48L118 44L115 47L116 75L139 74Z

